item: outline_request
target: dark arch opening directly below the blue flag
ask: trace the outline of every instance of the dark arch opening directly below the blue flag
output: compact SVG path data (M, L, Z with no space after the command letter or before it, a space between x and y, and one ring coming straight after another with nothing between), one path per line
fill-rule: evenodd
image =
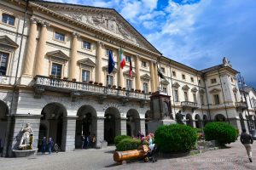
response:
M116 107L110 106L104 116L104 139L108 144L113 144L114 137L121 134L121 113Z

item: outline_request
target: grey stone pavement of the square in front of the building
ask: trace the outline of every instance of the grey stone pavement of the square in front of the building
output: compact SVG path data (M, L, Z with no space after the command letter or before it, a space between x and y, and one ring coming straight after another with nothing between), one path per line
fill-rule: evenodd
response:
M159 159L155 163L126 162L117 166L113 161L114 147L102 150L76 150L28 158L0 158L1 170L90 170L90 169L256 169L256 144L253 144L253 163L247 159L246 150L239 142L229 149L212 150L194 156Z

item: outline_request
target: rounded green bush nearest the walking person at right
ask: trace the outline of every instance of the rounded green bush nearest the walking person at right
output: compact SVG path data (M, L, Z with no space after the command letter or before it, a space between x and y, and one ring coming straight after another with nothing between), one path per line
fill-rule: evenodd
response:
M204 128L207 140L217 140L218 144L230 144L236 141L236 128L226 122L209 122Z

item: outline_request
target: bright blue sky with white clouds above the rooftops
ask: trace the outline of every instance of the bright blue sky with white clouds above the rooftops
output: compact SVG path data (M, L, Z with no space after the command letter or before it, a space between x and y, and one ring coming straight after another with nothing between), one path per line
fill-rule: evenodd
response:
M227 57L256 88L256 0L48 0L115 8L164 56L202 70Z

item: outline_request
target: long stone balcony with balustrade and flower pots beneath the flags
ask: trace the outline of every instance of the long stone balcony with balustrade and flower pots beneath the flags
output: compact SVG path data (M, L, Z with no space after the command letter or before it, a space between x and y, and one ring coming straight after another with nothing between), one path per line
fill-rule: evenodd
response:
M58 78L35 77L35 98L40 98L41 94L45 90L69 93L72 98L90 94L96 95L100 100L107 99L108 97L122 99L122 101L137 100L137 101L149 101L151 94L142 94L138 92L133 92L118 88L108 88L105 86L99 86L95 84L85 83L85 82L73 82L68 80L62 80Z

